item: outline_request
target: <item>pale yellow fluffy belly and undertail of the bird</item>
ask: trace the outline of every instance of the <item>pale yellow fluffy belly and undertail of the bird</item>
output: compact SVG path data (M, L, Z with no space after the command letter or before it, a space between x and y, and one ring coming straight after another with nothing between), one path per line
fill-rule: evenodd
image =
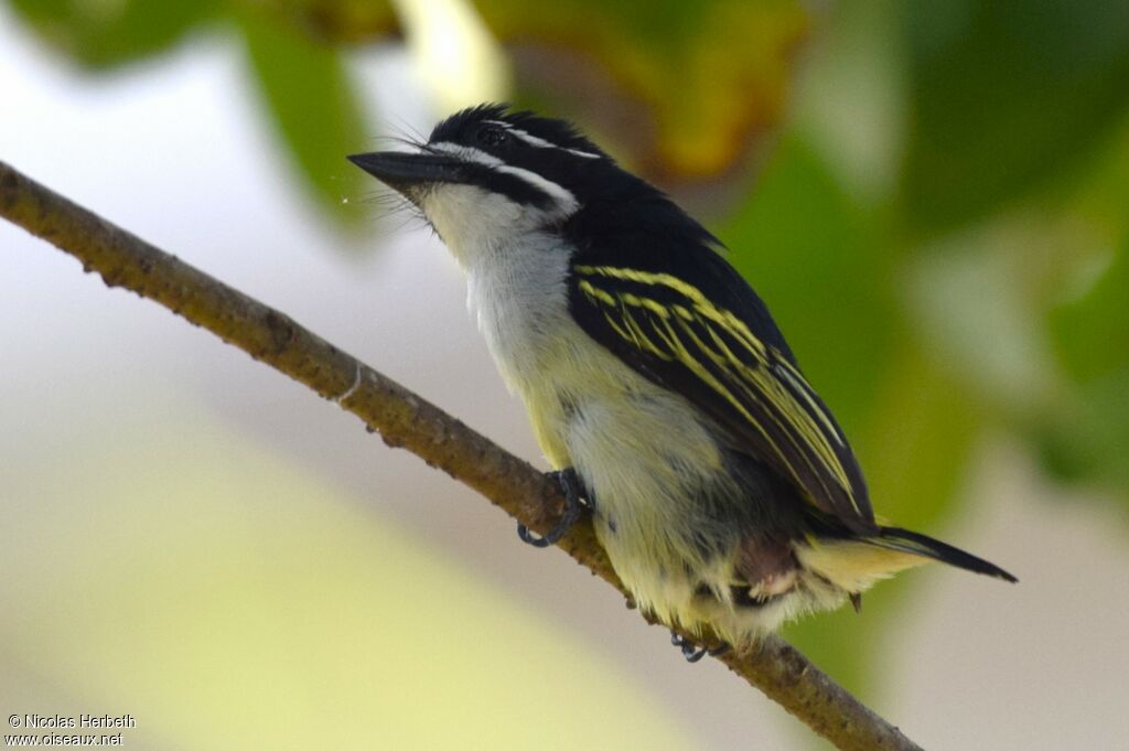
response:
M575 469L592 492L596 533L641 609L691 630L709 625L745 646L794 614L841 602L841 591L814 577L764 608L735 606L741 507L755 501L727 470L716 427L590 340L555 341L522 367L499 365L549 463Z

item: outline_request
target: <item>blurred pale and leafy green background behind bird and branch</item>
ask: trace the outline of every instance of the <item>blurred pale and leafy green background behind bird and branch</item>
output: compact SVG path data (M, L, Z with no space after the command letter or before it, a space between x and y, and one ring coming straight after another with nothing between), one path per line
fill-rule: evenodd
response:
M732 248L929 567L785 636L930 749L1129 748L1129 3L2 0L0 159L544 465L344 161L579 122ZM146 749L817 749L466 488L0 225L0 710ZM5 731L8 732L8 731Z

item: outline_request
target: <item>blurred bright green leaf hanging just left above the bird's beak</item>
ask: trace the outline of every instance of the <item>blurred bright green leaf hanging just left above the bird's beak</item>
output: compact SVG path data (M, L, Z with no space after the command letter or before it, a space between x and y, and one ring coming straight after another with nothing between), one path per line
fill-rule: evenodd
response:
M239 28L269 120L310 192L336 219L359 219L344 200L364 191L362 173L345 155L368 138L342 53L255 14L240 15Z

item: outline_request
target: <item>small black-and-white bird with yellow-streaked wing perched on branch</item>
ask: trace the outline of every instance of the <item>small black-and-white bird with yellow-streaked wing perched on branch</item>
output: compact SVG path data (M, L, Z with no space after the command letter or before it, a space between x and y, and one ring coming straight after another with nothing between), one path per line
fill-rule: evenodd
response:
M349 156L419 212L525 405L567 504L690 661L935 560L971 553L879 524L859 462L723 244L566 120L481 104L404 149Z

